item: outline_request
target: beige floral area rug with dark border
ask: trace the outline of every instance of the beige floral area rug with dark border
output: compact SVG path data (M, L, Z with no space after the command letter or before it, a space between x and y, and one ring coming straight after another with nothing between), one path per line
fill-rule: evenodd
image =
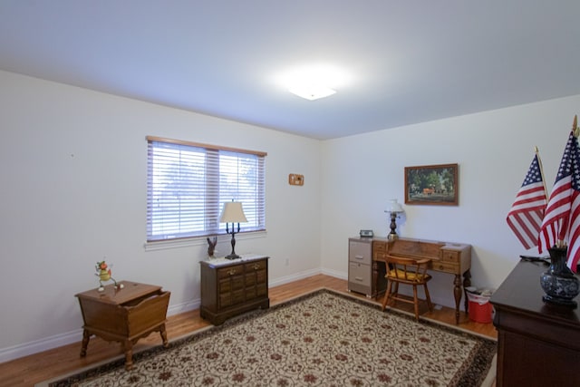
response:
M322 289L49 386L479 386L497 343Z

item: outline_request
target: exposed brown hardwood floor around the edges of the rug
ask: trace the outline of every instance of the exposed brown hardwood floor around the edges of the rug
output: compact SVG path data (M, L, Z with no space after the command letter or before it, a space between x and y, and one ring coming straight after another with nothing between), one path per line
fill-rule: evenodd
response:
M347 283L343 279L324 275L311 276L291 284L270 288L270 305L279 304L285 300L295 298L298 295L304 295L321 287L347 293ZM352 293L351 295L357 294ZM364 295L357 296L364 298ZM379 301L375 300L377 303ZM412 305L397 303L395 307L412 312ZM453 309L443 307L440 310L429 312L425 307L420 313L423 317L429 317L442 323L455 325L455 311ZM172 315L168 318L166 325L169 341L184 334L190 334L208 325L208 322L199 317L198 310ZM460 316L459 327L491 338L497 339L498 337L493 324L478 324L472 322L469 320L469 316L463 312ZM161 339L159 334L150 334L150 336L141 339L134 346L134 352L138 352L148 346L159 345L160 343ZM75 372L84 367L91 367L96 363L110 361L113 357L123 357L119 343L107 343L94 337L89 343L86 357L81 358L79 356L80 350L81 343L79 342L2 363L0 364L0 375L2 375L0 386L33 386L37 382L43 382L66 373Z

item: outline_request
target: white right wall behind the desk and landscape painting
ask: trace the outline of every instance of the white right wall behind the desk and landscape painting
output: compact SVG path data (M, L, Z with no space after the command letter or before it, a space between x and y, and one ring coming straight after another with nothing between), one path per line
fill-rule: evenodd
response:
M459 164L459 206L408 206L402 237L472 245L472 284L497 288L525 251L506 216L534 157L551 191L580 96L537 102L328 140L322 150L322 266L346 272L347 239L372 228L386 237L387 200L404 202L404 167ZM538 279L539 280L539 279ZM453 277L435 274L432 298L454 305Z

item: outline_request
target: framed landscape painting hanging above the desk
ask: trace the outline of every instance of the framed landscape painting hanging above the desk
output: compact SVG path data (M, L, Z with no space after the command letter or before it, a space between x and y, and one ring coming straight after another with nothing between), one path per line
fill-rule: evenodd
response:
M458 205L458 164L405 167L405 204Z

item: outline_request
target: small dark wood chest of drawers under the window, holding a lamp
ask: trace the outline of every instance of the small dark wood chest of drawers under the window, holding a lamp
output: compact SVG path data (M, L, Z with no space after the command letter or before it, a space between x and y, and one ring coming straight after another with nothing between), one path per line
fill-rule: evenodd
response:
M242 256L201 261L199 314L211 324L252 309L270 307L268 256Z

